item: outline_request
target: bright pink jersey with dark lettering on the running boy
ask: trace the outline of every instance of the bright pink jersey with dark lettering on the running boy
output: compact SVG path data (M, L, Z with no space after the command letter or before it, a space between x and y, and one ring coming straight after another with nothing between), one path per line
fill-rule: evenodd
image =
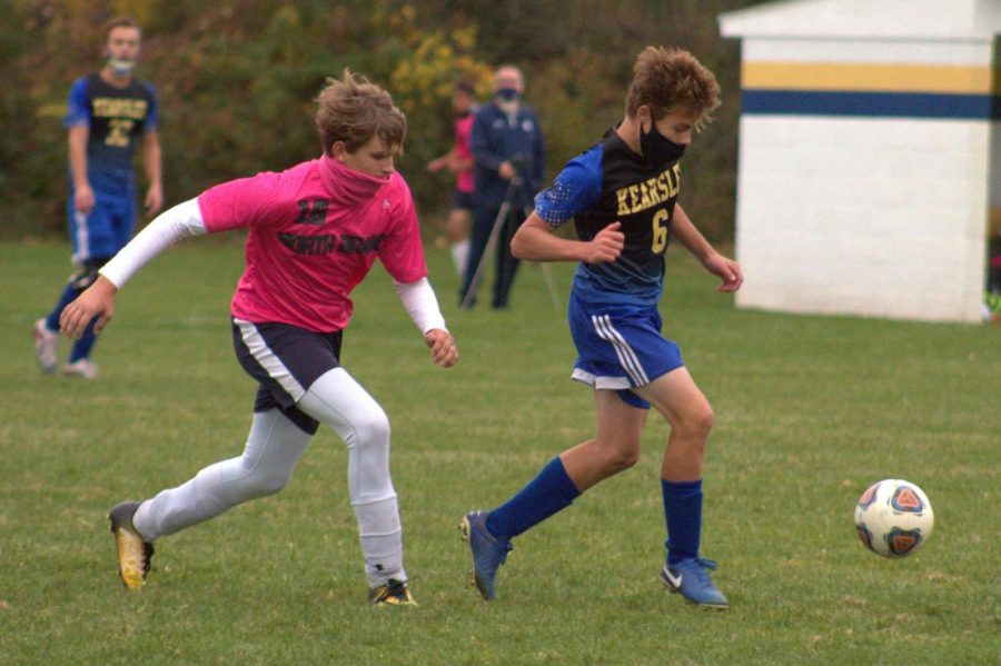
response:
M330 157L264 172L198 197L209 232L246 227L237 319L317 332L345 328L348 295L376 257L399 282L427 275L417 213L398 173L378 180Z

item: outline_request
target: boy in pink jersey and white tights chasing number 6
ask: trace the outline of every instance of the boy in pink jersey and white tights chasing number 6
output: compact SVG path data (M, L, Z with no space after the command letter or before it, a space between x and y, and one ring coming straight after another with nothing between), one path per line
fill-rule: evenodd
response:
M319 424L348 447L348 491L358 520L371 604L415 605L403 565L403 531L389 477L389 423L341 367L351 289L378 258L432 359L458 352L430 284L410 191L394 170L406 119L389 93L345 70L317 98L324 155L280 173L226 182L153 220L62 314L78 337L115 312L115 294L142 265L187 236L247 228L247 269L232 297L232 335L259 382L241 456L210 465L151 499L111 509L119 575L146 584L153 541L288 484Z

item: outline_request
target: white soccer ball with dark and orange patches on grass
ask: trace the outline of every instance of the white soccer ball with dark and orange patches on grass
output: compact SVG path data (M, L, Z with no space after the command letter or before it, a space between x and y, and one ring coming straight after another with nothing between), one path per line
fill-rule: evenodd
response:
M924 491L910 481L885 479L871 485L855 505L862 545L883 557L905 557L931 536L935 514Z

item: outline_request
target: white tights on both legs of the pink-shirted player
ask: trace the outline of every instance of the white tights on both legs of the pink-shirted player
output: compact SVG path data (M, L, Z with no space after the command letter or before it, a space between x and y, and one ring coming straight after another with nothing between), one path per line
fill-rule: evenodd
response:
M403 530L389 477L389 420L381 407L344 368L313 382L297 407L329 426L348 448L348 494L374 587L389 578L406 580ZM237 504L277 493L288 484L309 444L277 409L254 415L244 454L209 465L177 488L143 501L132 523L155 540L218 516Z

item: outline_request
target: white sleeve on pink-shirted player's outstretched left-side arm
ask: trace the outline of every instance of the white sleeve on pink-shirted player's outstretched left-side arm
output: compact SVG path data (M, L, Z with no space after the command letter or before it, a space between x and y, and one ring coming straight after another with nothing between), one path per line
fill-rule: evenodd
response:
M181 238L207 233L198 199L165 210L98 271L119 289L150 259Z

